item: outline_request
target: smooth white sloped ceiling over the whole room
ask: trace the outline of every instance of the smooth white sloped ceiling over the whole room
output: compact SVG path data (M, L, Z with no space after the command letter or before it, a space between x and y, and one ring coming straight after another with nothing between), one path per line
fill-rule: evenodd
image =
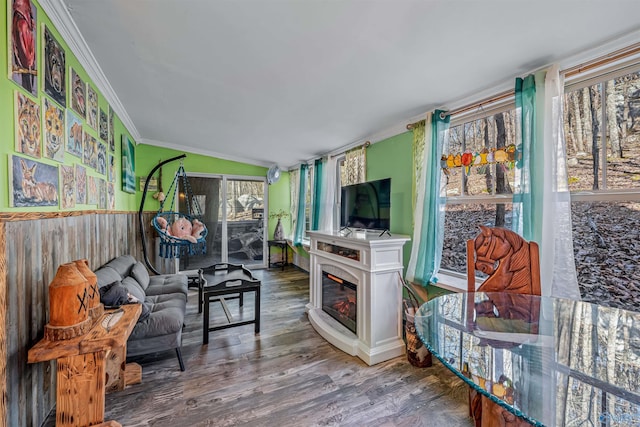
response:
M40 3L137 142L265 166L640 41L638 0Z

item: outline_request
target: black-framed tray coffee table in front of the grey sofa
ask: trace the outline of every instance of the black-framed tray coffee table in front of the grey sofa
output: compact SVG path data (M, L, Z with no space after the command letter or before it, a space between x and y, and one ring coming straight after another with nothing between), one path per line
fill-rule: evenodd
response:
M260 333L260 280L253 277L251 271L240 264L219 263L198 271L200 277L199 304L204 308L202 317L202 344L209 343L209 332L236 326L255 324L255 333ZM244 294L255 292L255 314L250 320L234 320L227 300L238 299L240 309L244 306ZM209 312L212 302L220 302L225 316L226 324L210 326Z

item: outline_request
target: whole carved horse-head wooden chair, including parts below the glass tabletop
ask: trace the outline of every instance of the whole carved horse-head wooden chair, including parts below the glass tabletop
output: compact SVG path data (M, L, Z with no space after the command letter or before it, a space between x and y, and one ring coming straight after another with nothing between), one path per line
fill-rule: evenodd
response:
M476 271L481 271L488 276L477 288ZM507 292L514 294L514 298L517 298L515 294L541 295L538 244L528 242L519 234L506 228L481 225L480 233L474 239L467 240L467 290L468 292ZM485 303L480 303L480 306L469 304L470 312L467 317L471 322L476 316L482 315L480 311L483 308L482 304ZM536 311L535 307L519 306L517 301L511 301L507 295L504 295L501 301L488 301L488 303L500 305L499 311L504 312L501 313L502 316L521 318L527 322L532 322L534 319L531 317L537 316L539 311L539 302ZM527 311L528 308L531 308L531 313ZM474 311L476 311L475 316ZM489 399L482 399L482 396L473 389L469 391L469 415L474 419L476 427L495 423L509 426L529 425L497 404L492 404Z

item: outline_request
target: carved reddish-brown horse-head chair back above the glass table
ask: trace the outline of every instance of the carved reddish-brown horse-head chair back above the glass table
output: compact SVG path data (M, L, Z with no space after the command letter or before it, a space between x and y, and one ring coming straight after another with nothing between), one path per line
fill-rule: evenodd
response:
M475 270L489 276L478 292L541 295L538 244L506 228L481 225L480 234L467 241L469 292L476 291Z

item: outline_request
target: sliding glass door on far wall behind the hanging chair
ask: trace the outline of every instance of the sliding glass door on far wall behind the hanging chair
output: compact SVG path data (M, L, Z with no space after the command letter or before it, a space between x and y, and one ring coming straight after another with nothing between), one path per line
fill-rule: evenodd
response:
M266 180L190 174L189 185L207 226L207 253L183 256L180 271L219 262L266 267ZM184 189L180 194L184 197ZM185 205L180 199L181 211Z

